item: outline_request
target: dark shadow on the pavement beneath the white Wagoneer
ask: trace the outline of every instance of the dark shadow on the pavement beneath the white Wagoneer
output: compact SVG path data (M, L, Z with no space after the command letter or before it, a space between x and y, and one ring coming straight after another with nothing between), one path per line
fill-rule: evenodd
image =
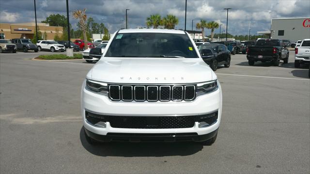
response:
M93 155L102 157L165 157L188 156L202 150L197 142L106 142L90 145L80 130L83 147Z

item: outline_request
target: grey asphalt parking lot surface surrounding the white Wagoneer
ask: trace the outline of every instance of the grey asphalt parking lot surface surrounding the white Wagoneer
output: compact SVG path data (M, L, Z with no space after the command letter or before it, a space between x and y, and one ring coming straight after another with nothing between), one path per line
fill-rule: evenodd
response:
M81 52L81 51L80 51ZM80 88L94 63L0 54L0 173L310 173L308 68L232 55L217 141L90 146Z

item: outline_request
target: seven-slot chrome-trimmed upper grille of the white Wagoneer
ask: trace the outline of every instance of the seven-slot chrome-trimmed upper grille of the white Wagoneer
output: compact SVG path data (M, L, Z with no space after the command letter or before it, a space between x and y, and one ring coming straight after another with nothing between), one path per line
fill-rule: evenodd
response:
M109 84L109 98L113 101L191 101L195 97L195 85Z

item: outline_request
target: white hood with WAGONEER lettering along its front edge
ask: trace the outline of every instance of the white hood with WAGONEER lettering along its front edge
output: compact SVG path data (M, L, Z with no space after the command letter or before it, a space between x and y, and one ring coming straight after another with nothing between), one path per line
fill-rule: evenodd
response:
M106 58L87 78L110 83L197 83L216 79L200 58Z

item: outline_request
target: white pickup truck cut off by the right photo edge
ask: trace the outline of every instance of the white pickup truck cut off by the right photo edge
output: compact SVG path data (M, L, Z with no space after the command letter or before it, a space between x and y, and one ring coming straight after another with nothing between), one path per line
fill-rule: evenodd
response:
M299 47L295 47L294 66L297 68L305 63L310 63L310 39L304 39Z

